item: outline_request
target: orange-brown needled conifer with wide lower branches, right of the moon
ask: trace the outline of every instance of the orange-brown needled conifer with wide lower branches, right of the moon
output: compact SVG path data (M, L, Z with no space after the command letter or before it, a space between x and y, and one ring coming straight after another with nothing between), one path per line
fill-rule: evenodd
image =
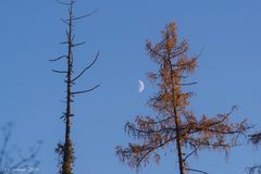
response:
M188 158L199 150L228 150L238 144L238 136L248 128L246 121L231 123L227 113L215 116L196 116L188 109L192 92L185 91L188 77L195 72L197 58L189 58L186 40L177 41L174 23L166 25L162 32L162 40L152 46L147 42L147 50L152 61L159 65L157 73L148 73L152 84L157 84L159 92L149 99L149 107L157 116L137 116L134 123L126 123L126 133L138 142L129 142L127 147L116 147L116 156L130 167L139 169L150 160L160 162L160 149L174 147L181 174L201 172L188 166Z

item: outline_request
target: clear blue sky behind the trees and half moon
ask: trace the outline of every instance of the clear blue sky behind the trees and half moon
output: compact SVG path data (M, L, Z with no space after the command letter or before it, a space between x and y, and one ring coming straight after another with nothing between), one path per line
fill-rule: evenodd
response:
M97 64L82 78L77 89L101 84L95 92L75 98L73 140L75 173L134 174L119 162L114 148L130 140L124 134L126 121L151 110L147 99L154 91L146 72L156 70L145 50L146 39L160 39L166 23L177 24L179 39L188 39L190 54L198 54L194 75L194 111L213 115L239 105L233 121L247 117L261 128L261 1L260 0L77 0L76 14L98 12L78 22L75 49L80 71L97 51ZM1 125L14 122L12 142L25 151L37 140L40 174L57 173L55 145L63 140L63 76L51 72L64 64L48 60L63 54L65 39L61 17L67 10L55 0L7 0L0 5ZM138 94L138 79L146 89ZM246 141L244 141L245 144ZM177 173L175 153L166 151L160 165L150 163L141 174ZM191 167L210 174L244 173L245 166L261 163L261 151L237 147L225 156L201 151L190 159Z

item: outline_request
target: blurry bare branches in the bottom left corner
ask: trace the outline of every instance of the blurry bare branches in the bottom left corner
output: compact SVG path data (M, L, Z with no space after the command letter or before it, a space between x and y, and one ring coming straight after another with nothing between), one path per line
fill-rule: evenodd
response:
M1 128L2 140L0 149L0 174L11 174L24 170L28 173L36 173L39 161L36 156L40 149L41 142L25 153L16 146L11 145L11 134L13 124L9 123Z

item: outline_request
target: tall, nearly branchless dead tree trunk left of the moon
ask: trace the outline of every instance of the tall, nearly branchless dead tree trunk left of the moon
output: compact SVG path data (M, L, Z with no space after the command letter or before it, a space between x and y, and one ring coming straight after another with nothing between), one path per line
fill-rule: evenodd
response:
M73 163L74 163L74 147L73 142L71 140L71 125L72 125L72 116L74 114L72 113L72 103L74 101L74 97L76 95L82 95L89 92L96 88L99 87L99 85L87 89L87 90L74 90L73 87L76 85L77 79L79 79L87 70L89 70L97 61L99 52L97 53L94 61L87 65L82 72L79 72L77 75L74 75L74 54L73 49L77 46L84 45L84 42L76 44L75 42L75 35L74 35L74 26L75 22L79 21L84 17L90 16L92 13L89 13L87 15L83 16L74 16L74 0L70 0L69 2L62 2L58 1L60 4L69 7L69 18L62 20L66 25L66 41L62 42L62 45L67 46L67 53L51 61L60 61L65 60L66 61L66 70L53 70L53 72L59 74L65 75L65 84L66 84L66 97L65 97L65 112L61 116L61 119L65 123L65 134L64 134L64 142L58 144L58 147L55 149L57 153L60 156L60 173L61 174L72 174L73 173Z

